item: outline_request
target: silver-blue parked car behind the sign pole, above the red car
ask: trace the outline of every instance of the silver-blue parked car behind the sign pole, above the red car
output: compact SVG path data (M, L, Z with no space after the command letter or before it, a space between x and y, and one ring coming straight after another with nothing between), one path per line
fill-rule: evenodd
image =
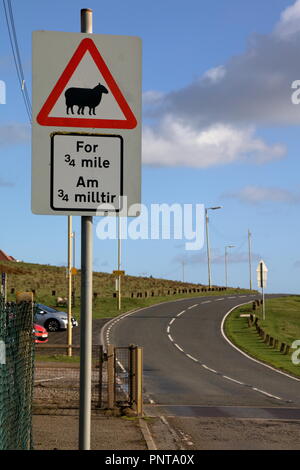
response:
M46 328L48 331L66 330L68 327L68 315L66 312L59 312L55 308L47 305L36 304L35 323ZM78 326L75 318L71 318L72 327Z

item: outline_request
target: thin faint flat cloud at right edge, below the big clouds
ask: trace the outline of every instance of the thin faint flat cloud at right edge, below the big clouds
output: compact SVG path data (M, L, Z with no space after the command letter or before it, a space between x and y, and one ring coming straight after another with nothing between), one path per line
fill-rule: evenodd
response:
M248 204L259 204L263 202L297 204L300 202L299 194L292 193L286 189L251 185L246 186L236 193L224 194L223 197L234 198Z

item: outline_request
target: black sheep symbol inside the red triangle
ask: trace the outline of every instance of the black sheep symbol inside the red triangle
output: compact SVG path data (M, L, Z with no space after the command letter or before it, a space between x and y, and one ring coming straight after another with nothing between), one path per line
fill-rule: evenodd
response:
M88 106L89 115L96 114L95 108L101 102L102 93L107 94L108 90L100 83L94 88L68 88L65 91L67 114L69 110L74 114L73 106L78 106L77 114L84 115L84 108Z

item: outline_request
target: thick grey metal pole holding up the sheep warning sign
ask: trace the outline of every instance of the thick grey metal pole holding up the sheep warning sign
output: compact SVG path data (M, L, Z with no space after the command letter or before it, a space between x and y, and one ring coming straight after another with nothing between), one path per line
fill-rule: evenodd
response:
M81 10L81 32L92 33L92 10ZM92 369L93 217L81 217L79 450L90 450Z

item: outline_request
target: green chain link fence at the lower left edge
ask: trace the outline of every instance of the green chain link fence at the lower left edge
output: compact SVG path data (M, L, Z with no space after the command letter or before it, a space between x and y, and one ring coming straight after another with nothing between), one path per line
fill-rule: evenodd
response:
M0 450L32 448L32 308L0 296Z

